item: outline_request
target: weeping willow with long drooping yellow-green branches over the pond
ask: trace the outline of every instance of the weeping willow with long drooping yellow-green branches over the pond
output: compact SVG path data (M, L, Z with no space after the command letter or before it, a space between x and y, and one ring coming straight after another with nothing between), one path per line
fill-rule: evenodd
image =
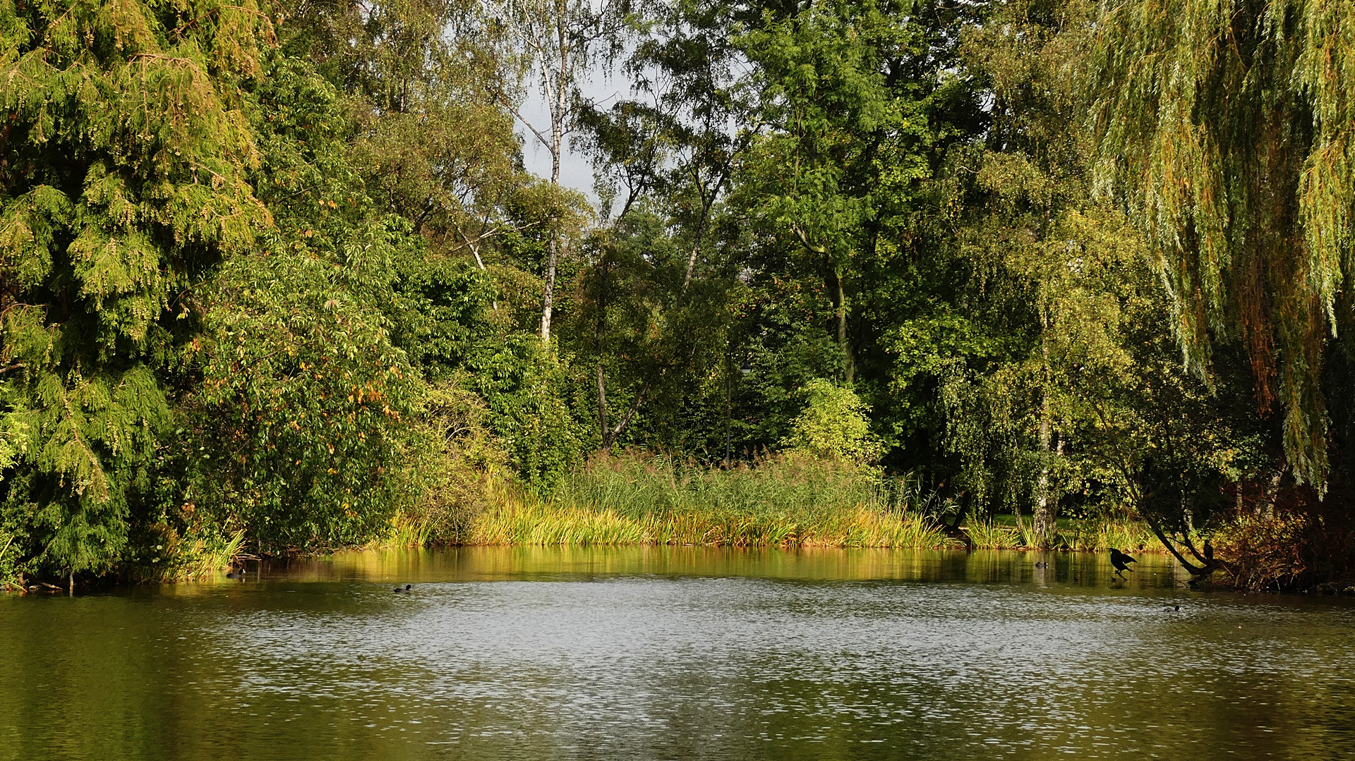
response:
M1245 347L1299 482L1328 475L1324 351L1350 329L1355 0L1121 0L1093 57L1098 177L1144 230L1188 368Z

